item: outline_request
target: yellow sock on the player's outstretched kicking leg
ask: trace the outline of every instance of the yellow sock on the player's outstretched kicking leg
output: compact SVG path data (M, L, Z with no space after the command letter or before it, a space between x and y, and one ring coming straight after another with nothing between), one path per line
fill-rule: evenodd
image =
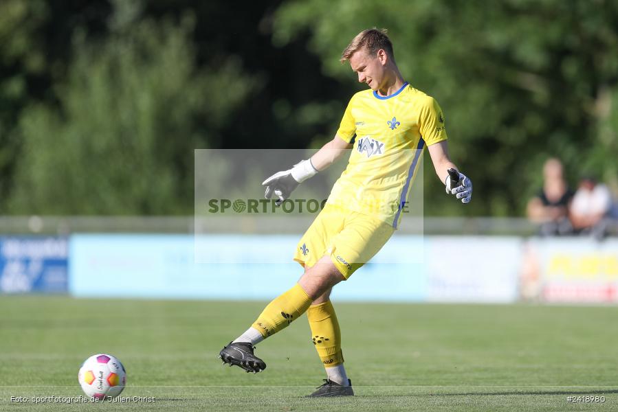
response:
M305 290L302 290L299 284L295 284L294 288L270 302L252 327L260 331L265 338L276 334L305 313L311 305L311 300Z

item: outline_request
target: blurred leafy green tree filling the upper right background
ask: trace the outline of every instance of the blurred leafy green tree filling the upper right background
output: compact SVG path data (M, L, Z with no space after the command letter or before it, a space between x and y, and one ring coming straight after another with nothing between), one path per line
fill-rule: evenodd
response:
M615 176L615 1L289 1L274 43L309 34L324 73L351 84L340 52L374 26L388 27L404 76L441 103L452 157L475 183L476 201L461 208L426 178L432 214L520 214L549 156L571 176L584 163Z

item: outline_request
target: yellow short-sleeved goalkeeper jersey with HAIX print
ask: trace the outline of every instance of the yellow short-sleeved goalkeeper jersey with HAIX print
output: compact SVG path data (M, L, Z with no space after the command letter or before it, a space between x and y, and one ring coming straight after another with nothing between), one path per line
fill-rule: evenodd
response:
M388 96L351 98L337 135L354 144L327 203L375 216L396 229L425 146L447 139L434 98L408 82Z

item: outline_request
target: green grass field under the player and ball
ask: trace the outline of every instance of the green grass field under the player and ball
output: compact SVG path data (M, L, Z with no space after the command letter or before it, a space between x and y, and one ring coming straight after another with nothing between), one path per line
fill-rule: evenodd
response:
M0 410L618 409L616 307L335 303L357 396L315 400L303 396L325 376L306 319L258 345L268 365L261 374L221 366L221 347L263 306L2 296ZM122 396L155 402L32 402L81 395L78 368L98 352L124 363ZM569 396L605 402L567 402Z

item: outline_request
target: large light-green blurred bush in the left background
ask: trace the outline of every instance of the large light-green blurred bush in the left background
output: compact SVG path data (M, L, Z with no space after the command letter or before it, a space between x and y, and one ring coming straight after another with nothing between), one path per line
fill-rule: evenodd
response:
M196 69L192 14L176 24L114 5L109 36L74 37L58 105L21 113L14 213L191 214L193 149L252 89L232 58Z

